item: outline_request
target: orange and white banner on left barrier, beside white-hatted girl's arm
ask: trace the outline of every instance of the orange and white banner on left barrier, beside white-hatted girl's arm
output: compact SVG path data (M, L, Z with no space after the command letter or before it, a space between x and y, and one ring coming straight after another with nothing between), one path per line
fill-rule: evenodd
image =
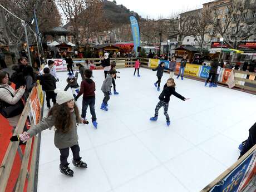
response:
M30 112L32 114L34 124L36 125L40 121L40 114L41 114L41 106L40 106L40 101L38 99L37 88L33 88L33 91L30 94L31 94L30 100L29 100Z

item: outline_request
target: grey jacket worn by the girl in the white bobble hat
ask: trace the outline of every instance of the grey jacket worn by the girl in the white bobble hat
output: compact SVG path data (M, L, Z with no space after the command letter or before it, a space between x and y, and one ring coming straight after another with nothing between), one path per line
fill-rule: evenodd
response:
M55 130L54 135L54 144L58 149L65 149L67 147L71 147L73 145L78 145L78 135L77 135L77 122L75 111L71 112L72 114L72 125L71 130L63 133L62 131ZM37 125L31 127L27 131L30 137L33 137L40 133L43 130L51 128L55 125L55 120L53 116L49 116L40 121Z

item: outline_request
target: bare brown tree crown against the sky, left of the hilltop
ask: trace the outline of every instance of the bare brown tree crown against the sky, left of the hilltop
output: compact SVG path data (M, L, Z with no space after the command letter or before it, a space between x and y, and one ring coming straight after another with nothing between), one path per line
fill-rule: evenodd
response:
M72 26L73 37L79 47L81 40L88 42L93 32L107 30L109 23L103 17L100 0L56 0L68 23Z

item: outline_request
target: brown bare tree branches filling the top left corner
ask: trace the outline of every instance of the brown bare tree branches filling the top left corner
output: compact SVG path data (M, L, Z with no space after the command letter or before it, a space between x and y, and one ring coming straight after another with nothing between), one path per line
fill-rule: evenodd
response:
M58 26L60 24L60 14L54 2L47 0L0 0L0 4L3 4L4 7L28 24L33 17L33 9L35 8L38 24L41 27L44 26L43 30L47 29L48 26ZM35 29L35 26L31 27ZM35 42L35 36L29 29L28 37L30 43ZM17 58L24 41L24 28L22 27L21 21L0 8L0 43L9 46L10 52L15 53Z

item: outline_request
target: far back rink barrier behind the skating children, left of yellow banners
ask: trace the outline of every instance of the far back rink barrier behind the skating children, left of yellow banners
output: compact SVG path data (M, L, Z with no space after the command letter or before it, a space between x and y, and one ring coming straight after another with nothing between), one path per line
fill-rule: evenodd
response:
M47 59L47 62L49 60L52 60L55 62L55 67L56 67L56 71L67 71L67 63L64 59L62 58L52 58L52 59ZM72 58L73 62L74 62L74 70L78 70L78 68L76 67L76 63L81 63L82 65L85 65L85 61L93 61L93 67L91 66L92 70L102 70L103 67L100 66L101 61L103 60L103 58ZM125 67L134 67L135 65L135 61L137 60L137 58L135 57L119 57L119 58L110 58L110 63L112 61L116 62L116 68L125 68Z

